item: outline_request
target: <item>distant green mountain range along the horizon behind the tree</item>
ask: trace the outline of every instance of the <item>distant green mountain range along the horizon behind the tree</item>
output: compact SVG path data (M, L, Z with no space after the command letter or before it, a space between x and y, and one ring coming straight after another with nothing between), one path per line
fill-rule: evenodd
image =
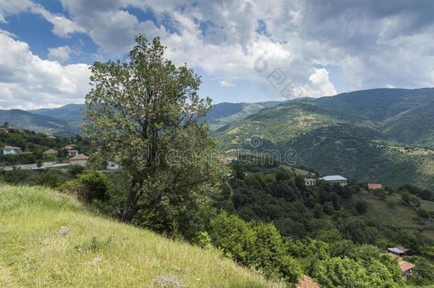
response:
M80 133L84 105L0 110L0 122ZM324 174L399 186L434 186L434 89L374 89L286 102L219 103L206 117L222 151L285 153ZM250 140L260 137L260 146Z

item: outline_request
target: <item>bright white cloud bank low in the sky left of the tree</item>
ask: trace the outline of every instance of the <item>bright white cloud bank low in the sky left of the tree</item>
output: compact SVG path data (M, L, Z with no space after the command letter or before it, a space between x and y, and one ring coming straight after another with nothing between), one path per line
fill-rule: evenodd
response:
M27 43L0 33L0 108L33 109L83 102L87 64L60 65L33 55Z

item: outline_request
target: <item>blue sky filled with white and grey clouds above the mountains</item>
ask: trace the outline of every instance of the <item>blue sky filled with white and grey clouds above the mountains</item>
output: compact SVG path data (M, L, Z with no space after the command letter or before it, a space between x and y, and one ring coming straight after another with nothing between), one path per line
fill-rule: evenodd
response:
M430 0L0 0L0 109L82 103L95 61L134 35L218 102L434 86Z

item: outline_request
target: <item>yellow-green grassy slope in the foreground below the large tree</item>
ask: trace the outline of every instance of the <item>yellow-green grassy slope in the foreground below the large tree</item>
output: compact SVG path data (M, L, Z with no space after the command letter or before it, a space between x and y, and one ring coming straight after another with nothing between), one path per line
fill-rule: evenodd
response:
M153 287L164 275L186 287L277 287L213 252L92 215L69 196L1 186L0 287Z

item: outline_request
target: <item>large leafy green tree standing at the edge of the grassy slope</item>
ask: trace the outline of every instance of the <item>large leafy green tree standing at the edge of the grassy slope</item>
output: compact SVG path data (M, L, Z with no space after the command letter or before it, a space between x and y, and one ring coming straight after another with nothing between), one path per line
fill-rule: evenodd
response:
M123 167L125 222L162 203L197 208L225 172L213 158L215 144L201 121L211 100L199 97L200 77L165 59L164 50L159 38L149 43L139 35L127 62L96 62L90 68L83 130L95 146L95 159Z

